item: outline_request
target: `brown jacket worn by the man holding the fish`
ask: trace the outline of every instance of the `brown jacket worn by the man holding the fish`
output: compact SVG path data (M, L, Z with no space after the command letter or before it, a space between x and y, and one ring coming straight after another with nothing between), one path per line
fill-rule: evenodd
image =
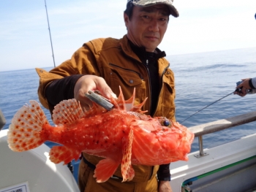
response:
M159 58L159 82L160 93L157 104L157 110L154 116L165 116L175 120L175 89L174 75L169 69L169 63L165 58ZM136 88L137 104L141 103L146 97L150 96L150 85L146 67L141 63L138 56L132 52L129 46L127 36L122 39L94 39L87 42L77 50L72 58L65 61L60 66L46 72L43 69L37 69L39 74L39 101L48 109L53 110L53 106L48 104L45 98L45 88L50 82L56 79L67 77L72 74L94 74L103 77L108 83L113 93L119 94L119 86L124 93L124 99L132 96ZM142 110L150 110L150 97L146 101ZM83 154L92 164L97 164L99 158L93 155ZM159 166L133 166L135 169L134 182L145 182L155 179ZM115 173L121 177L121 170ZM157 187L157 186L155 186Z

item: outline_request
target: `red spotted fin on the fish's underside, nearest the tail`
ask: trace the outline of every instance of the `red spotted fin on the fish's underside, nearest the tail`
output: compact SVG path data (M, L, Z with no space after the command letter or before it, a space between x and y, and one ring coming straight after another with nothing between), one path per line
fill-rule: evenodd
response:
M64 164L68 164L70 161L75 159L78 160L80 151L66 146L54 146L50 149L50 161L54 164L59 164L64 161Z

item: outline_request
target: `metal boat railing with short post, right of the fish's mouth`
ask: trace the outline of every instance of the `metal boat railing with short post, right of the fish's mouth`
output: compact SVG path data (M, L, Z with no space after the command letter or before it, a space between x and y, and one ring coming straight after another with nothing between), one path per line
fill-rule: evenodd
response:
M226 128L231 128L234 126L240 126L255 120L256 120L256 111L248 112L246 114L238 115L232 118L216 120L210 123L201 124L199 126L190 127L189 130L195 134L195 137L198 137L199 154L195 155L195 157L200 158L205 155L208 155L208 153L203 152L203 135L211 134L217 131L222 131Z

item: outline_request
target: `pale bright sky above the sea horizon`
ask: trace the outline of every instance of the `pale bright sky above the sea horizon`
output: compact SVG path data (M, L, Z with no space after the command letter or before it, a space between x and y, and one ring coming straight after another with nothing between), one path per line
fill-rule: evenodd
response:
M127 33L127 0L0 1L0 72L53 67L91 39ZM167 55L256 47L256 0L174 0L160 50Z

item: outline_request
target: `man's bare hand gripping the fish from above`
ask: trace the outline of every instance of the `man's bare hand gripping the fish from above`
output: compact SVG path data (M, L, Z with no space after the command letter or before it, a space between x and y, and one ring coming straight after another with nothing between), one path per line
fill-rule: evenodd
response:
M82 107L85 107L86 110L89 110L89 106L92 105L91 100L85 96L86 93L91 90L99 90L102 96L107 99L110 99L111 96L113 96L113 98L116 98L116 94L113 93L111 88L102 77L90 74L83 75L75 83L74 98L80 101L80 105Z

